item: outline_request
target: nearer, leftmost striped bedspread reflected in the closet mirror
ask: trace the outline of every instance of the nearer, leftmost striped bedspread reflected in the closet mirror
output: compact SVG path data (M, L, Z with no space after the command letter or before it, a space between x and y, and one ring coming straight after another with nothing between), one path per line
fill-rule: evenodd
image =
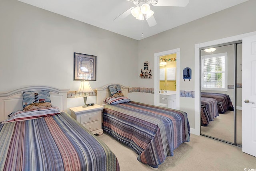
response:
M201 97L201 125L208 125L209 121L213 121L217 116L219 116L217 100Z

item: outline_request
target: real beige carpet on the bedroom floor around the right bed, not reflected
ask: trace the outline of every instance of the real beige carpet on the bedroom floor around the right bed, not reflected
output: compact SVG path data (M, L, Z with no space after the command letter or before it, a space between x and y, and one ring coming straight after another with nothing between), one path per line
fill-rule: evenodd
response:
M129 147L104 133L97 136L115 153L120 171L150 171L137 160L138 155ZM242 152L242 148L204 136L190 135L190 142L182 143L167 157L158 171L243 171L256 168L256 157Z

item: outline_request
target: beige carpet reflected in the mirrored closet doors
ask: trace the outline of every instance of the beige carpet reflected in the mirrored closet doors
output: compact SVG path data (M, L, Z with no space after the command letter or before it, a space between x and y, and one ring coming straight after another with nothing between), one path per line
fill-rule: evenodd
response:
M219 115L208 126L201 126L201 134L234 143L234 112ZM242 110L237 110L236 115L236 143L242 145Z

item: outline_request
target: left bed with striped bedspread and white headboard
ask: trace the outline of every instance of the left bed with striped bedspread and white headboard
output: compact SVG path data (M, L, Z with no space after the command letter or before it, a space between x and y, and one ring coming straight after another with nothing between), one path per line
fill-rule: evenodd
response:
M33 91L36 99L40 90L50 90L52 106L24 112L23 92ZM114 153L62 112L67 91L32 86L0 94L0 170L120 170Z

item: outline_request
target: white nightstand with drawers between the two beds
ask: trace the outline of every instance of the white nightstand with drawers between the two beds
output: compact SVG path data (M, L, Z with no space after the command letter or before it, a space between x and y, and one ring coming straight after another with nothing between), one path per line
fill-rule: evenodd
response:
M88 106L87 108L83 108L82 106L69 108L71 116L76 119L77 122L82 124L82 126L92 132L92 134L99 135L103 134L101 128L102 109L104 109L104 107L98 104Z

